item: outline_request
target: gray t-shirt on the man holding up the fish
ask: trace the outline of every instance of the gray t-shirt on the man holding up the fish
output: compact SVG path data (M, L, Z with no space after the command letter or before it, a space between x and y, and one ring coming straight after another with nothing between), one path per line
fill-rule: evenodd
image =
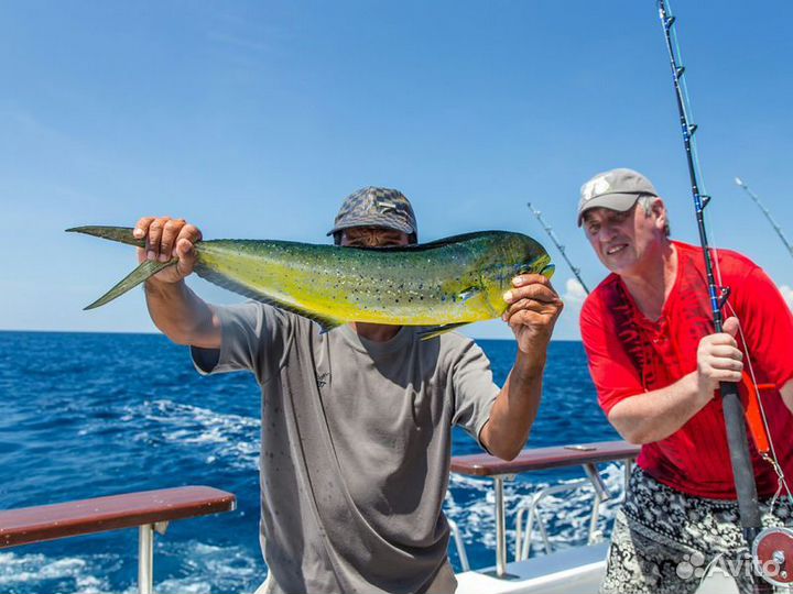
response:
M478 439L499 393L468 338L388 342L259 302L218 307L202 373L262 388L261 536L286 593L422 592L446 560L452 426Z

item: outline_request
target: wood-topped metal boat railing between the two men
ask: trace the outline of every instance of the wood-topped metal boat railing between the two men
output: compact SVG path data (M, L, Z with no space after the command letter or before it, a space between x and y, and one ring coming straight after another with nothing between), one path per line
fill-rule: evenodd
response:
M546 552L551 542L539 512L539 506L550 495L591 486L593 513L589 519L590 543L598 539L597 525L600 504L611 495L606 487L597 464L624 462L626 479L631 471L632 461L639 455L640 447L626 441L600 441L595 443L557 446L523 450L514 460L504 461L489 454L458 455L452 459L452 472L468 476L488 477L493 482L496 513L496 575L507 576L507 526L504 482L526 472L547 471L569 466L583 466L586 479L573 483L552 485L537 492L529 503L519 508L515 527L515 559L526 559L531 552L531 538L536 521ZM523 527L523 518L525 527ZM456 535L458 540L458 536ZM460 546L457 544L458 553ZM463 549L465 549L463 547ZM465 552L464 552L465 554Z

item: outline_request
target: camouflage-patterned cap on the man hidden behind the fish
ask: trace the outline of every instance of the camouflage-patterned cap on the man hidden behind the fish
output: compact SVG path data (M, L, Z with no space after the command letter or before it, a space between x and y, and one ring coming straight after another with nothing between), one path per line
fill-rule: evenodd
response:
M369 186L345 198L328 235L352 227L381 227L402 231L413 242L419 235L410 200L399 190Z

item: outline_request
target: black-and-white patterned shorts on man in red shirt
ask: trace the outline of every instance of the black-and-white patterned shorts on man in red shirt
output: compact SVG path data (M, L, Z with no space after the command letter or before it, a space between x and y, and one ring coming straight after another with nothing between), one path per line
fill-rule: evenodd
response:
M793 504L761 502L763 526L793 526ZM636 469L611 534L600 594L687 594L709 566L751 593L751 564L740 530L738 504L674 491Z

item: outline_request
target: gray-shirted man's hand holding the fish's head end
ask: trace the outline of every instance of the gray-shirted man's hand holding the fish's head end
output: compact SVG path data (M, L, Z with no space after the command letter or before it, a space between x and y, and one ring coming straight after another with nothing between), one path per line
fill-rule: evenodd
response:
M520 351L530 353L548 343L564 304L541 274L515 276L512 286L504 293L504 301L510 305L502 319L512 328Z

